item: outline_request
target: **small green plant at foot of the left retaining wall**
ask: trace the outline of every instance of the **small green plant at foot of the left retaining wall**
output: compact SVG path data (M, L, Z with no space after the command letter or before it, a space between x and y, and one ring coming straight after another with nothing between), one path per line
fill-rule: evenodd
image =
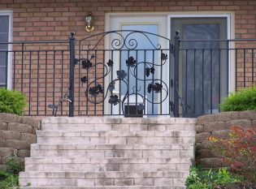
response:
M19 187L19 173L22 171L17 157L7 157L7 170L0 170L0 189Z

